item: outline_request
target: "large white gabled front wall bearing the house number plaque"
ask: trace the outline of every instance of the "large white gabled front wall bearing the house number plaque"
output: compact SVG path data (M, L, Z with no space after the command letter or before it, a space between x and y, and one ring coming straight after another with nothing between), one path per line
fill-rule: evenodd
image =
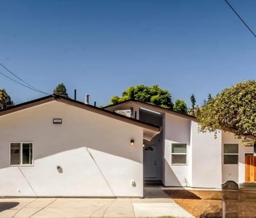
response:
M57 101L0 124L0 196L143 196L141 127ZM14 141L34 143L34 166L9 165Z

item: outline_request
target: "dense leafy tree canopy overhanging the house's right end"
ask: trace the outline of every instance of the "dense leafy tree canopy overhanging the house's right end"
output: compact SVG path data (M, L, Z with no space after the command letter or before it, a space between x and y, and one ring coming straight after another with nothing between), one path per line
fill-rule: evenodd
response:
M218 129L232 132L239 139L256 139L256 81L225 88L196 111L202 132Z

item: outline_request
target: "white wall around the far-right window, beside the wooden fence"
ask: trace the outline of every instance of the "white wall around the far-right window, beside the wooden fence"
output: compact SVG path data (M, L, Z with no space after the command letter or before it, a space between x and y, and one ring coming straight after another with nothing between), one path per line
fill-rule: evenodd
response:
M223 164L223 144L237 143L238 147L238 165ZM233 133L222 132L222 182L233 180L236 183L245 182L245 154L253 154L253 147L244 146Z

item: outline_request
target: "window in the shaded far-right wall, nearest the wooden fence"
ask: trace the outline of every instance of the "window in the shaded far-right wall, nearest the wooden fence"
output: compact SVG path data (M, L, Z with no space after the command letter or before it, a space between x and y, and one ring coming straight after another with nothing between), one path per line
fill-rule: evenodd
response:
M238 144L223 144L223 164L238 164Z

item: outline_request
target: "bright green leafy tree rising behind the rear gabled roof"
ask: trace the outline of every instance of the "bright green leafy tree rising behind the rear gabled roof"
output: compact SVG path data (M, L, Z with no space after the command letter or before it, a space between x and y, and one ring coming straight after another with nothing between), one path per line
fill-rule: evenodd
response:
M122 93L121 97L113 96L110 100L110 104L119 103L128 99L143 101L164 108L173 108L170 92L163 90L158 85L151 87L145 85L131 86Z

